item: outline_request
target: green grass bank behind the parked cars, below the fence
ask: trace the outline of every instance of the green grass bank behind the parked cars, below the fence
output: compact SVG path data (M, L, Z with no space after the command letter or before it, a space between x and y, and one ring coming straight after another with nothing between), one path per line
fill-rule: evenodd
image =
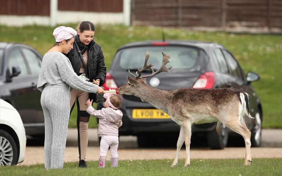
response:
M64 25L75 28L77 24ZM37 25L0 26L0 41L26 43L45 54L55 43L52 36L54 28ZM113 56L120 46L162 38L161 28L157 27L96 25L95 28L94 40L103 49L107 69L110 68ZM262 102L262 127L282 128L282 35L193 32L174 28L164 28L164 33L166 39L217 42L228 48L246 73L254 71L260 75L260 80L252 85ZM76 107L71 114L69 127L76 127ZM96 128L96 120L91 119L89 127Z

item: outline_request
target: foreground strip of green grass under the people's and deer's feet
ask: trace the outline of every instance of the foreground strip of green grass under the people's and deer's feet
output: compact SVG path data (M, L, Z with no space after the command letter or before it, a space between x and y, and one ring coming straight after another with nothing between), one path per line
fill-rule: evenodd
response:
M243 166L244 159L192 159L191 166L183 167L185 160L171 168L173 160L121 160L119 167L98 168L98 161L88 161L87 169L75 162L64 163L64 169L44 169L44 164L31 166L1 166L0 175L282 175L281 158L256 158L250 166Z

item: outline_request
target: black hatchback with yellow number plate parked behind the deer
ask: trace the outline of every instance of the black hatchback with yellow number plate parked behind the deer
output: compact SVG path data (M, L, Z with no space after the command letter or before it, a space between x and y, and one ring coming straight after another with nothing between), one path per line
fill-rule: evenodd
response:
M245 118L250 129L252 146L260 146L262 129L262 105L256 95L252 81L259 80L259 75L248 72L245 75L235 57L228 49L217 43L201 41L144 41L130 43L120 47L107 72L105 90L117 89L126 84L127 76L137 71L137 66L144 66L146 51L150 57L148 64L152 63L158 70L162 63L162 52L170 55L167 67L170 73L161 72L153 78L147 78L147 84L161 90L174 90L182 87L198 89L233 87L244 90L250 95L250 114L255 119ZM148 69L142 75L150 75ZM122 95L123 102L120 110L123 112L123 125L119 128L119 135L137 136L138 145L141 147L158 143L158 139L179 136L180 127L170 119L166 113L157 113L151 104L141 101L133 95ZM98 104L101 109L102 104ZM158 114L158 115L157 115ZM193 136L203 137L209 147L222 149L226 147L228 136L239 137L239 134L221 126L221 135L216 133L216 123L193 125ZM236 138L234 138L236 139ZM243 137L239 137L243 140ZM174 143L175 144L175 143ZM244 145L244 142L242 143Z

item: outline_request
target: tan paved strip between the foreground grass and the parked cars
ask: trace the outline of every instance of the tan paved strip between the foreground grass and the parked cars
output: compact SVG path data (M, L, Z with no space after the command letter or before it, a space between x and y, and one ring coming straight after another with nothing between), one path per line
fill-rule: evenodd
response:
M97 166L99 158L99 147L88 147L86 161L89 166ZM170 164L175 156L176 148L119 148L120 160L148 160L148 159L167 159ZM107 160L110 160L110 151L107 154ZM252 160L256 158L282 158L282 148L251 148ZM226 147L223 150L211 150L209 148L191 148L191 159L221 159L221 158L241 158L242 165L244 163L245 148L244 147ZM78 147L66 147L64 162L78 162ZM185 147L179 152L179 159L185 158ZM27 147L26 157L22 163L18 165L32 165L44 163L44 147ZM77 163L78 164L78 163ZM184 164L184 163L182 163Z

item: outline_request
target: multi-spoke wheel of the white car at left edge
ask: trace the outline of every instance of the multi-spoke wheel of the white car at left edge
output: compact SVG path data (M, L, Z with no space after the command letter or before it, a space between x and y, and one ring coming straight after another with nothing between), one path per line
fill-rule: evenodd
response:
M4 130L0 130L0 166L16 165L18 150L13 137Z

